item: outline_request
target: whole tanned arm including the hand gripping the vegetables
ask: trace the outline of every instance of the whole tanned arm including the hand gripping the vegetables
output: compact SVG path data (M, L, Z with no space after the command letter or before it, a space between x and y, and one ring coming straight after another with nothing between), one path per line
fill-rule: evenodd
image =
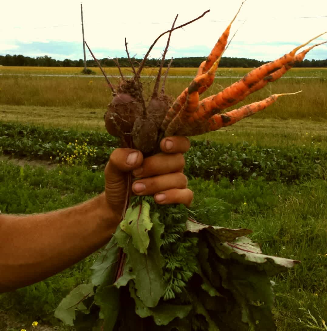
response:
M126 196L127 172L143 169L132 189L138 195L165 194L166 203L189 205L192 192L182 174L189 148L183 137L166 138L164 154L144 159L142 153L117 149L105 169L105 192L80 205L50 213L0 215L0 293L30 285L54 275L92 254L118 225ZM173 148L165 149L166 141ZM136 154L135 154L136 153ZM134 163L128 164L127 161ZM144 178L143 178L144 177ZM150 177L150 178L148 178ZM145 189L136 192L137 186Z

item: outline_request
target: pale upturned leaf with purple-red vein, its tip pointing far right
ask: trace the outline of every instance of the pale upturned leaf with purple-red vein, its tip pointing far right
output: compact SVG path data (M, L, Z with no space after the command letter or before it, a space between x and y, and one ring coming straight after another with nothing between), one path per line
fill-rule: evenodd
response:
M294 267L300 261L279 258L262 254L257 243L253 243L248 237L241 237L233 242L217 242L211 234L208 239L218 256L224 259L233 259L245 264L256 264L259 270L265 270L272 276L287 268Z

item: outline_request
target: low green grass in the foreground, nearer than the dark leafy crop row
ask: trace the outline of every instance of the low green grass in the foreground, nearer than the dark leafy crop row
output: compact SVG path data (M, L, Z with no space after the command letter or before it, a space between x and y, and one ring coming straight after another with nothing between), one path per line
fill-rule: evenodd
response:
M0 174L0 209L7 213L64 208L103 189L102 172L92 173L79 166L50 170L25 166L21 170L0 162ZM308 323L314 323L308 312L317 321L316 329L323 330L322 319L327 318L327 183L312 180L286 185L262 179L230 183L223 179L217 184L193 179L189 187L195 193L193 210L199 209L208 196L220 199L225 208L221 226L251 228L253 240L260 243L265 254L302 261L273 279L278 330L308 330ZM215 217L215 211L203 216L204 221ZM96 256L95 253L45 281L0 295L0 313L11 311L18 322L15 330L35 320L64 330L53 317L53 310L72 288L87 282Z

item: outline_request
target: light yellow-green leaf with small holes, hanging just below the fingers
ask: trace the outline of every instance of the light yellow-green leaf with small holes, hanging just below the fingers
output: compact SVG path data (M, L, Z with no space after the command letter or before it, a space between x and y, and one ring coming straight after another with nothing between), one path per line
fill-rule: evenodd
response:
M146 201L142 201L142 204L129 207L125 218L120 222L120 227L132 236L135 248L140 253L146 254L150 242L147 232L152 227L150 205Z

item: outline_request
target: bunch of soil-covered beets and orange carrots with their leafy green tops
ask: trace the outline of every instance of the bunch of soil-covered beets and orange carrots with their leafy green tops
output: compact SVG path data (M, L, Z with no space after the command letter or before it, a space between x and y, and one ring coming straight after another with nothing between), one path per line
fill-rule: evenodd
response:
M104 118L107 131L118 137L122 146L151 155L163 136L217 130L265 109L284 94L222 113L280 78L319 45L296 54L320 35L254 69L218 94L200 100L200 94L214 80L235 17L175 101L165 94L169 67L164 75L162 71L172 31L186 24L175 27L176 17L172 28L154 41L138 67L130 59L125 39L134 77L126 79L121 74L118 86L106 77L114 97ZM167 45L154 89L146 100L149 91L143 90L140 74L154 44L165 33ZM208 203L206 208L209 211L215 206ZM90 283L79 285L62 300L55 312L58 318L76 330L94 331L276 329L269 276L298 261L264 255L247 236L251 230L223 228L214 219L202 224L184 206L159 206L151 197L131 197L131 190L124 215L94 263Z

